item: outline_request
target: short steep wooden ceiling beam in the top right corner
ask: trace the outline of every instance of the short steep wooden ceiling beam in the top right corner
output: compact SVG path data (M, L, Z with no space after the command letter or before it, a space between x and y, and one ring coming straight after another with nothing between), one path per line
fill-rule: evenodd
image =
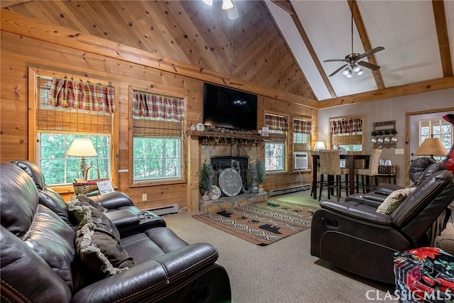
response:
M433 16L437 28L438 48L440 49L441 66L443 77L453 75L453 65L451 63L451 53L449 48L448 26L446 26L446 14L444 1L432 0Z

